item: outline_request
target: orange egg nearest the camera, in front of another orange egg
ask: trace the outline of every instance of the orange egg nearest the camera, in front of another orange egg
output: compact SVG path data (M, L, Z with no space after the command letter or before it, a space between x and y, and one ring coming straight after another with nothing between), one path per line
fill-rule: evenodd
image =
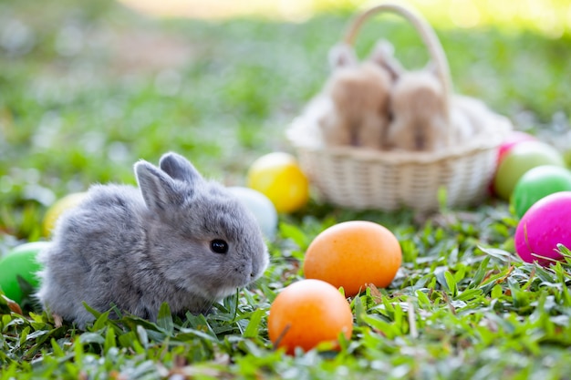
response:
M350 339L353 314L348 301L331 284L301 280L285 287L270 306L269 338L287 354L296 347L309 351L319 344L337 350L340 334Z

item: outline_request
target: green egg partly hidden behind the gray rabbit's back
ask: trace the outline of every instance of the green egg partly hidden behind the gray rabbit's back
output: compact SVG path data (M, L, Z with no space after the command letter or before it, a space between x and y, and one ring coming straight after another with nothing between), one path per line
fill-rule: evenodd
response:
M36 272L41 269L36 262L37 253L46 248L48 241L36 241L18 245L0 259L0 289L6 297L20 303L23 292L18 282L18 276L36 288L38 280Z

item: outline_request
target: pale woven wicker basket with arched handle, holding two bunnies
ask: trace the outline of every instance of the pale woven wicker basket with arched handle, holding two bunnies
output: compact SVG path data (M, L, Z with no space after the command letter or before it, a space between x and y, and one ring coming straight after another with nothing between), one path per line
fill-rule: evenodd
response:
M448 62L431 26L416 13L400 5L381 4L358 15L349 25L344 42L352 45L359 27L371 15L396 13L419 32L436 65L441 84L449 94L452 82ZM319 98L307 105L286 135L296 149L301 168L322 198L353 209L417 211L438 209L439 193L445 190L448 206L464 206L481 201L493 179L497 151L512 129L507 118L490 112L486 128L462 145L448 142L438 151L326 147L317 126ZM448 100L447 107L450 101Z

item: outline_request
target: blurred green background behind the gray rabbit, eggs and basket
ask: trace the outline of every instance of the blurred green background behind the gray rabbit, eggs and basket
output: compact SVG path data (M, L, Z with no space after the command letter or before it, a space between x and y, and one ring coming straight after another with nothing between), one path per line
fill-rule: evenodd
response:
M134 183L167 150L243 185L258 156L292 151L288 123L328 75L327 50L356 1L30 0L0 3L0 248L40 238L57 198ZM568 147L571 6L566 0L417 0L441 38L455 90ZM131 7L132 6L132 7ZM413 29L381 15L407 67L427 60Z

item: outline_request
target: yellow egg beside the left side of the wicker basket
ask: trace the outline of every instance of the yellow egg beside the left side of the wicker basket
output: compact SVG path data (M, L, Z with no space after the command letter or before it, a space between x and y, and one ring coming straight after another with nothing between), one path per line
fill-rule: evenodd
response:
M256 159L248 170L248 187L265 194L277 212L294 212L309 200L309 181L288 153L274 152Z

